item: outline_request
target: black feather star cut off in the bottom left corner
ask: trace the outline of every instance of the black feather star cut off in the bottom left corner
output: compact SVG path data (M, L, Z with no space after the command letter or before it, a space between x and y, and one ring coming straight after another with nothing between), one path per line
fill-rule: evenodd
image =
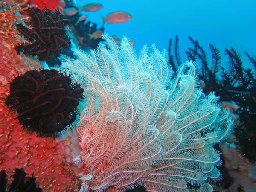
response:
M26 176L27 173L23 168L15 168L12 173L12 182L7 187L6 172L4 169L0 171L0 192L43 192L43 189L37 185L34 174L32 174L32 177Z

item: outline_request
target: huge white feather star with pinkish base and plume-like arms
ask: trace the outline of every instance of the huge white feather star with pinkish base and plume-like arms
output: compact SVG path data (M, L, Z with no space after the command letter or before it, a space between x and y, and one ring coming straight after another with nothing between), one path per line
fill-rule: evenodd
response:
M199 90L197 66L182 64L174 79L155 45L137 56L131 41L121 46L103 35L90 55L73 49L77 59L62 58L78 80L88 107L77 128L83 164L82 191L212 191L218 180L219 152L212 146L232 129L230 112L213 93ZM169 87L166 90L165 87ZM197 189L191 189L197 185Z

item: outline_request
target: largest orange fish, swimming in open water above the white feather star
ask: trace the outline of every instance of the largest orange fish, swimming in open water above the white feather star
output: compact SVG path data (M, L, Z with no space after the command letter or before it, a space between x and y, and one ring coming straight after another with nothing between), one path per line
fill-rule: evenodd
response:
M107 17L102 17L102 18L103 18L103 25L106 22L109 22L109 24L111 24L111 23L124 23L128 20L131 20L131 14L129 14L127 12L118 11L118 12L109 13L107 15Z

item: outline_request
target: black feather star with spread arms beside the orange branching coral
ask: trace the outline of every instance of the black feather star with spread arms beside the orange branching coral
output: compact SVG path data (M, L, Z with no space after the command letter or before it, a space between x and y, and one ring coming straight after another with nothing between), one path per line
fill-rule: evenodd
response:
M54 11L46 7L28 8L31 29L22 23L16 24L17 30L29 43L17 44L17 53L23 52L25 55L37 56L40 61L50 57L57 57L61 50L69 48L71 41L66 35L64 27L69 20L57 9Z

